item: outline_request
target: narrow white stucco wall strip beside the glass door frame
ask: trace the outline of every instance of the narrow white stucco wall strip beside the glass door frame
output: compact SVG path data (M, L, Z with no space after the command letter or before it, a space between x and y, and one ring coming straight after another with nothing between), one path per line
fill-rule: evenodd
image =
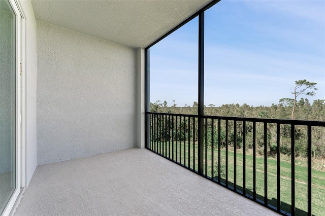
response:
M37 166L37 47L36 19L30 1L20 1L26 21L26 184Z

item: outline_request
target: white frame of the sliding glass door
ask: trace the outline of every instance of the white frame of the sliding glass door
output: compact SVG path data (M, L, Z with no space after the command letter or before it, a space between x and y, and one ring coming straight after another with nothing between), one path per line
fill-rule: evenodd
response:
M2 215L9 215L14 204L26 186L25 148L25 30L26 20L19 0L8 1L15 13L15 77L16 77L16 188Z

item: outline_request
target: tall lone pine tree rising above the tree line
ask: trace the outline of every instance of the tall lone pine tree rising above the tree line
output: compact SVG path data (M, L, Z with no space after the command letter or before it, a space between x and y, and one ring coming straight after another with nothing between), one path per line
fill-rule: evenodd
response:
M311 82L308 82L307 80L298 80L298 81L295 82L295 84L296 84L296 86L294 88L292 88L292 90L294 90L294 92L291 92L295 96L294 105L293 105L293 112L291 113L292 119L295 119L295 108L297 106L297 97L299 95L301 95L301 94L314 96L315 92L311 91L311 92L306 92L305 93L305 91L307 89L317 90L317 88L315 87L317 83L311 83Z

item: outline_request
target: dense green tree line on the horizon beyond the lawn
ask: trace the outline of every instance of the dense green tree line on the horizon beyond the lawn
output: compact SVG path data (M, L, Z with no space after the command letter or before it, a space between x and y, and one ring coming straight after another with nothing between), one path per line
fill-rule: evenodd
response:
M310 120L310 121L325 121L325 100L316 99L312 104L307 98L300 98L301 94L314 95L314 92L306 92L308 89L317 90L316 83L310 83L306 80L296 81L296 86L293 88L294 98L281 98L279 103L271 106L251 106L246 103L240 104L223 104L215 106L209 104L204 107L204 115L206 116L226 116L226 117L244 117L244 118L264 118L264 119L296 119L296 120ZM302 88L301 88L302 87ZM166 101L156 101L150 103L150 112L157 113L173 113L173 114L198 114L198 102L194 101L192 106L185 105L183 107L177 106L173 101L173 105L169 106ZM174 137L174 141L190 141L197 142L198 140L198 123L188 123L179 121L178 127L182 130L176 131L175 125L164 120L165 125L162 124L162 119L158 117L156 123L160 130L159 134L152 137L154 140L166 140ZM190 120L191 121L191 120ZM324 122L325 124L325 122ZM184 127L185 126L185 127ZM243 146L243 139L245 138L246 149L251 149L253 146L253 125L251 122L236 122L236 134L234 132L235 123L230 121L228 124L228 145L241 149ZM183 130L185 128L185 131ZM208 146L216 147L218 145L219 136L217 125L214 123L212 130L211 120L207 120L207 137ZM194 129L194 130L193 130ZM167 130L167 131L166 131ZM171 131L171 132L170 132ZM297 125L295 127L295 156L307 157L307 126ZM265 138L267 140L268 155L276 155L277 149L277 129L276 124L268 124L267 137L264 135L264 124L256 123L256 152L259 155L264 154ZM214 143L212 143L212 136ZM236 143L235 143L236 142ZM225 121L221 121L220 128L220 145L226 145L226 129ZM291 126L286 124L280 125L280 152L285 155L291 155ZM325 127L312 127L312 154L313 158L325 159Z

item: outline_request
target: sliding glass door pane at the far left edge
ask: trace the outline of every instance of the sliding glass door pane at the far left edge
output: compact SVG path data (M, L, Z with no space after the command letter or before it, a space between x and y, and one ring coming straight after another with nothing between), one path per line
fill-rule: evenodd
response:
M16 15L0 0L0 214L16 189Z

